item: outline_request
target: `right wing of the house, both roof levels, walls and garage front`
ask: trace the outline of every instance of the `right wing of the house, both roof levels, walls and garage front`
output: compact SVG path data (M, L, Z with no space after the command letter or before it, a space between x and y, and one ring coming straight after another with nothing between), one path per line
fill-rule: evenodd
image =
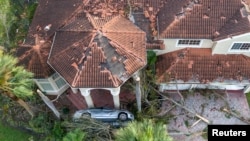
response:
M153 39L165 45L154 50L160 91L211 88L249 92L249 1L137 0L135 4L136 24L143 25L144 17ZM141 27L145 26L144 22Z

